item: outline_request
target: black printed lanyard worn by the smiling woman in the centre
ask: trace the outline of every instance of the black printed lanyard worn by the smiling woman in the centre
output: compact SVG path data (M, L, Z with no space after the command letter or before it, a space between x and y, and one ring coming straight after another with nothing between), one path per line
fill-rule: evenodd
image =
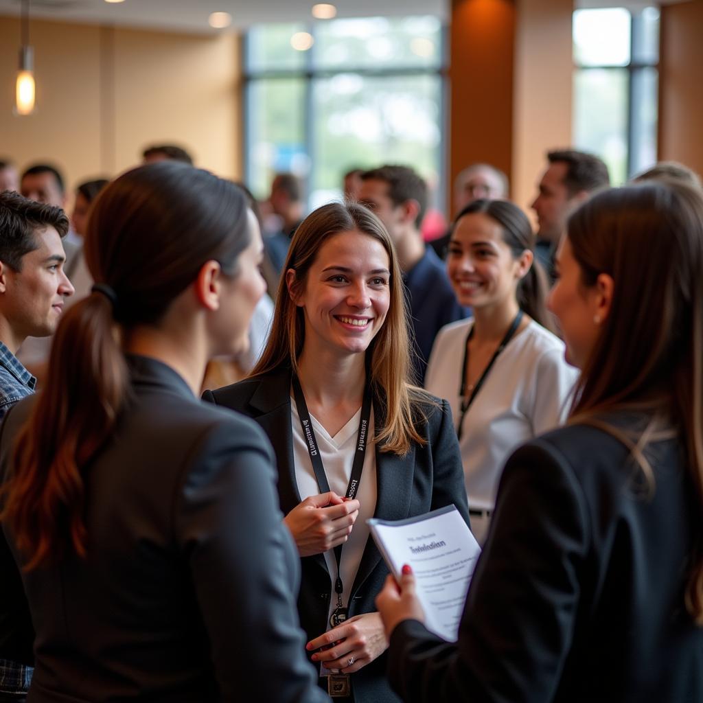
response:
M293 395L295 396L295 405L298 409L298 417L300 418L300 427L303 431L305 444L307 445L310 461L315 472L315 478L321 493L327 493L330 490L330 484L325 474L325 467L322 463L320 451L318 449L315 430L312 427L310 413L307 409L303 389L300 387L300 382L296 375L292 379ZM356 450L354 451L354 463L352 463L352 475L349 477L349 485L347 486L347 498L354 498L356 492L359 491L361 483L361 472L363 471L363 460L366 457L366 444L368 442L368 423L371 419L371 391L367 386L363 392L363 403L361 404L361 418L359 420L359 434L356 435ZM342 593L344 593L344 584L342 583L342 545L335 547L335 560L337 562L337 578L335 579L335 593L337 593L337 607L335 608L330 624L333 627L344 622L349 614L349 609L342 605Z

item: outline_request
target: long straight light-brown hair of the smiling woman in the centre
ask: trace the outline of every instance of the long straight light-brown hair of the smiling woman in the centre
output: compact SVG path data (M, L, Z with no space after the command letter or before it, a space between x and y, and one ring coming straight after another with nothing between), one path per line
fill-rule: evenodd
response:
M305 340L305 316L288 292L285 272L295 271L292 289L302 292L310 267L325 242L335 234L351 231L378 240L388 254L390 304L385 322L366 350L366 368L375 404L383 411L382 418L375 419L375 441L382 443L381 451L402 456L413 441L426 443L415 429L415 422L423 417L423 406L431 406L433 402L429 394L409 381L411 352L408 350L412 344L400 264L387 229L367 207L357 202L330 202L311 212L298 226L278 285L269 340L250 376L281 368L297 371Z

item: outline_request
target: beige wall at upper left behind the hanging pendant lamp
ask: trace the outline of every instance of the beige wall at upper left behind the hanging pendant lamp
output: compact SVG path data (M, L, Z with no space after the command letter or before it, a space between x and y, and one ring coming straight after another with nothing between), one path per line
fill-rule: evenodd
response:
M0 18L0 158L55 162L72 188L138 162L155 141L241 172L239 40L32 21L37 110L13 115L19 22Z

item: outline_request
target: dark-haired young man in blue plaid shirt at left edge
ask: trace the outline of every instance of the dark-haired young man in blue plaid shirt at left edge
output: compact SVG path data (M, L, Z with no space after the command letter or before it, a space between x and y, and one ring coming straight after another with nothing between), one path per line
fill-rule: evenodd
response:
M67 231L68 218L59 207L0 193L0 418L32 394L37 382L15 356L20 344L29 335L53 334L64 300L73 293L63 271L61 238ZM0 577L0 598L24 601L18 574ZM27 631L31 624L0 622L0 701L18 703L27 694L34 661Z

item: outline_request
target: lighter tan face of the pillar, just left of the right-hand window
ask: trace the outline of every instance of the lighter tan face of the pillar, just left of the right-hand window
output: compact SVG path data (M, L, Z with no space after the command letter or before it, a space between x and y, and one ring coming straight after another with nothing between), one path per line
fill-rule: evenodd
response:
M545 153L572 139L573 0L516 0L512 198L529 210Z

